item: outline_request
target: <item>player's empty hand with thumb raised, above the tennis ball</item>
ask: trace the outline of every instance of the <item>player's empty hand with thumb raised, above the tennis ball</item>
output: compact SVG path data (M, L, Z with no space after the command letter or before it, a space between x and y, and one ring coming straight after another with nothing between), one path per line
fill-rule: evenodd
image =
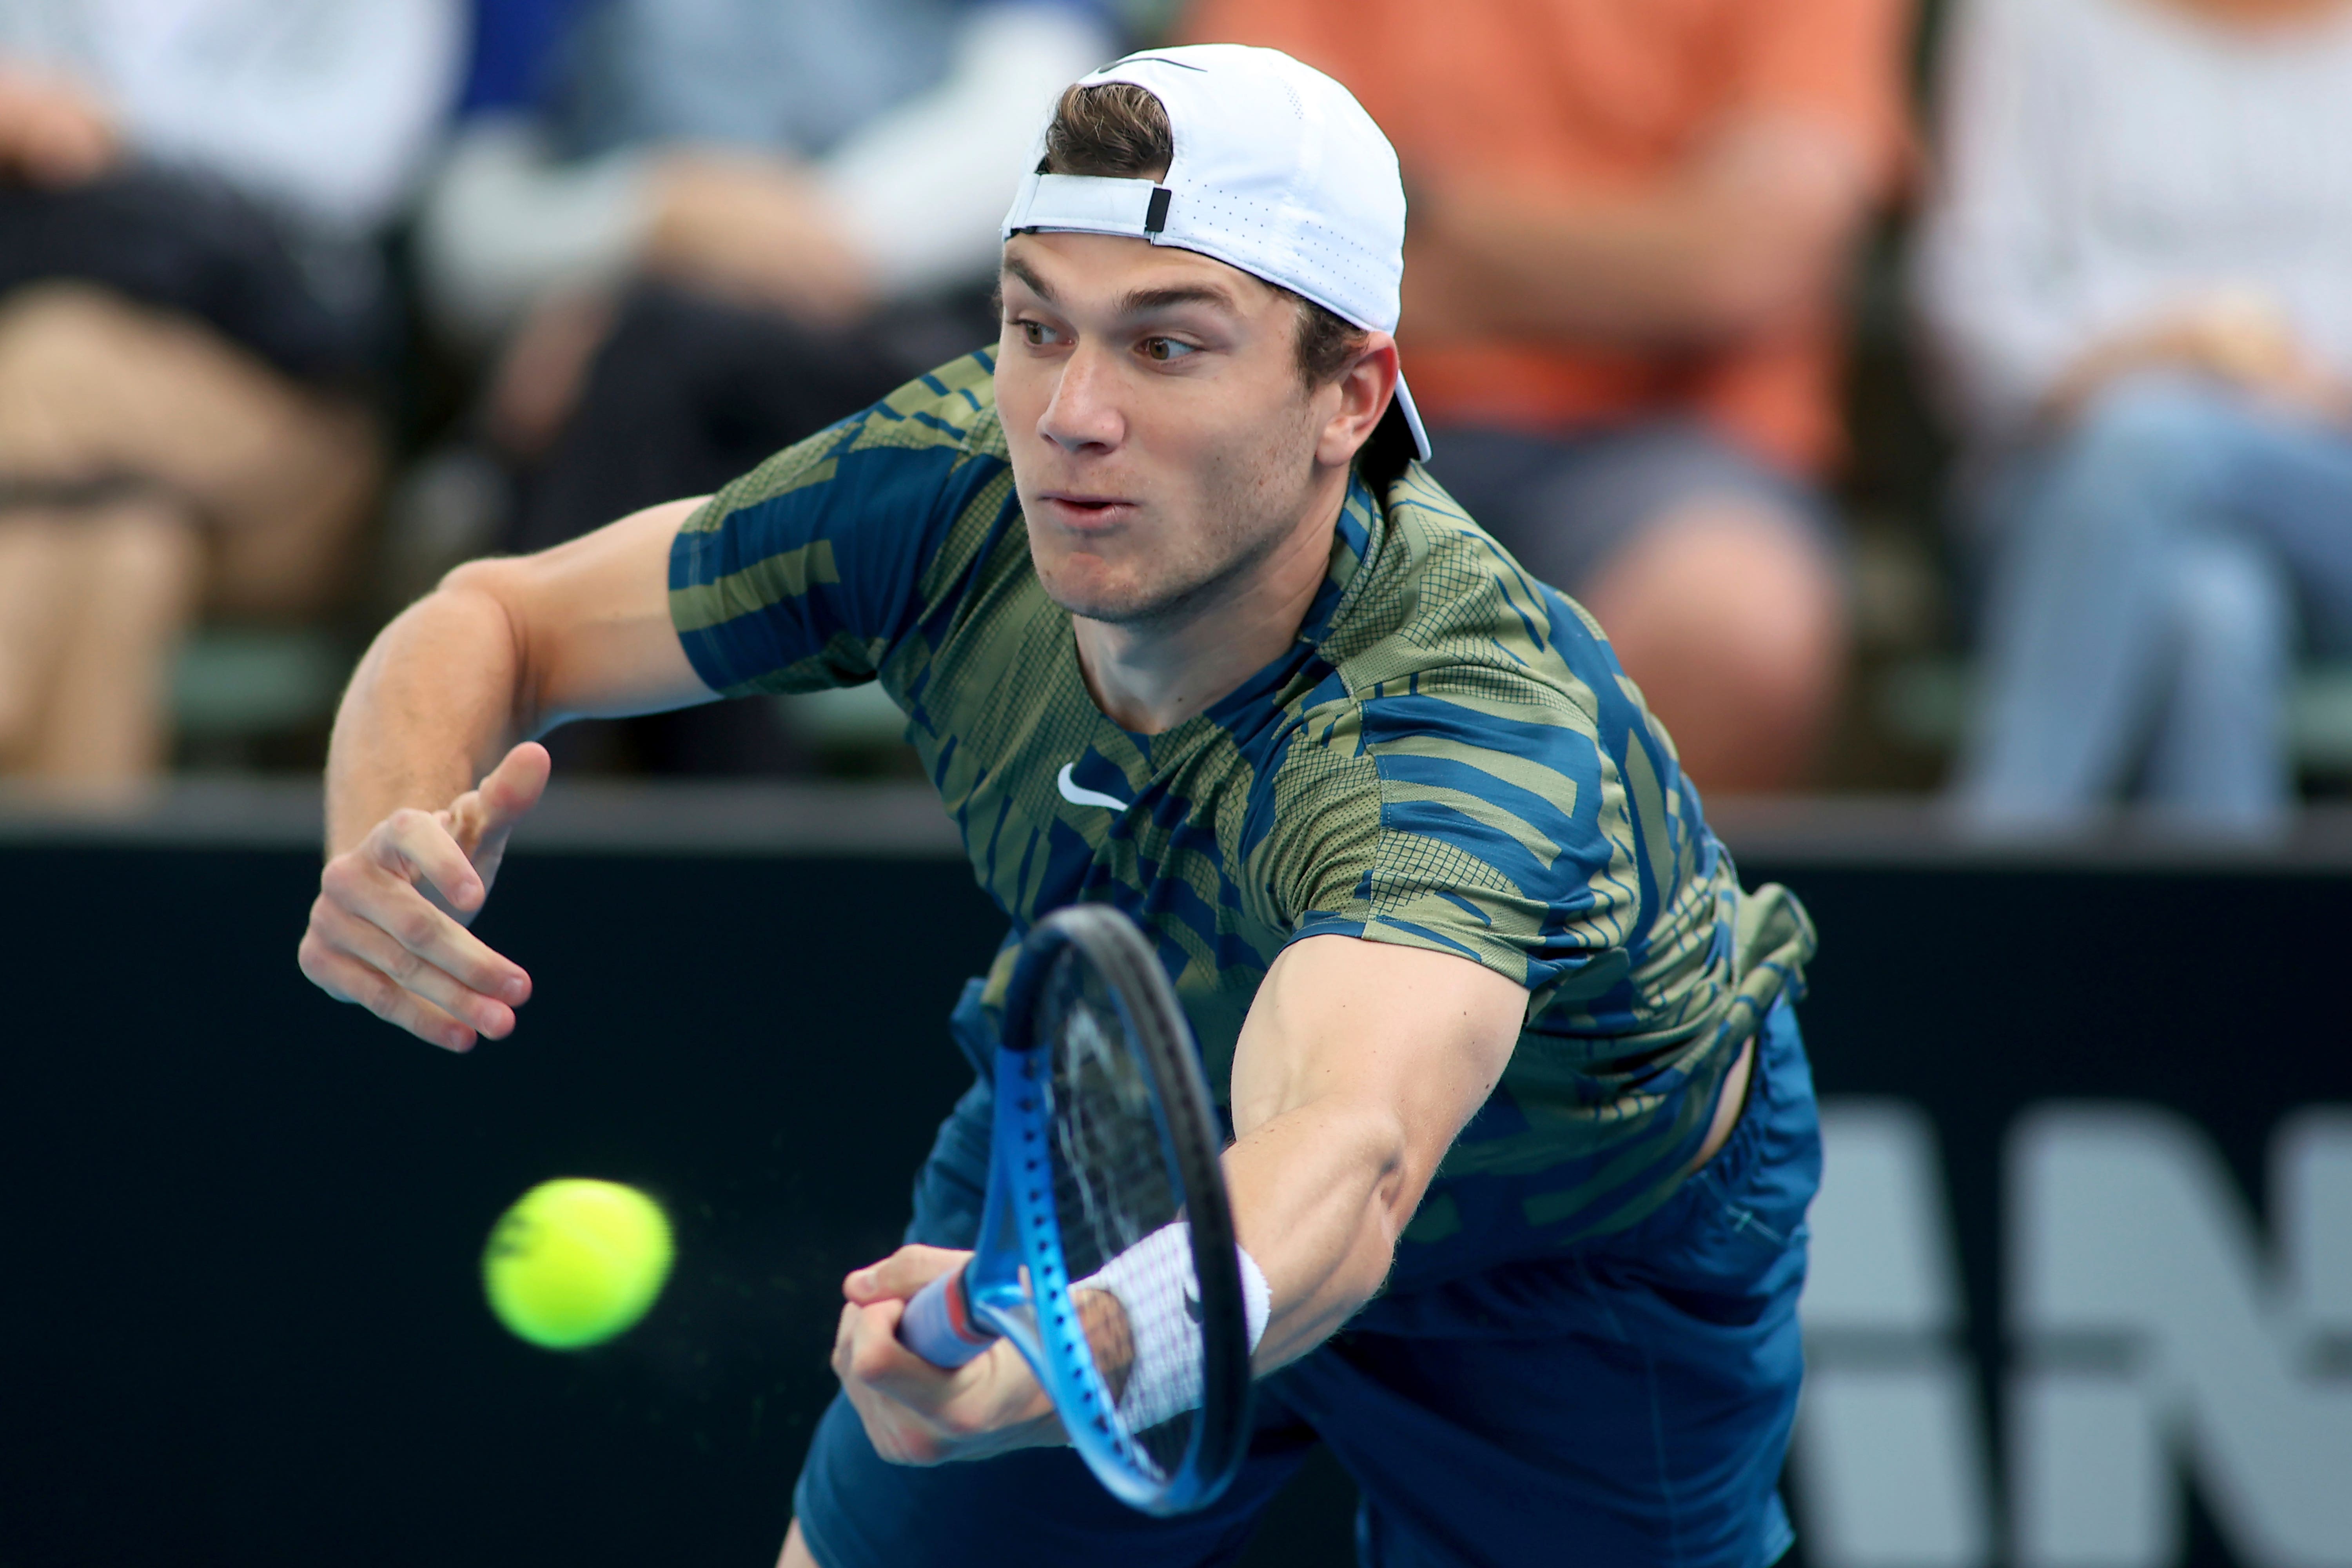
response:
M442 811L393 811L327 860L301 938L310 983L445 1051L513 1034L532 978L466 926L548 766L548 748L524 741Z

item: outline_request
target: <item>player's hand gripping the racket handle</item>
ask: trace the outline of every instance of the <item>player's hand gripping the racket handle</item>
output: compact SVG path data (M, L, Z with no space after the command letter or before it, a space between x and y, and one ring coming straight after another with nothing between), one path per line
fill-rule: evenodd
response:
M866 1422L866 1439L891 1465L985 1460L1065 1441L1054 1401L1007 1340L955 1371L898 1342L906 1302L969 1258L938 1246L901 1246L842 1281L847 1305L833 1335L833 1373Z

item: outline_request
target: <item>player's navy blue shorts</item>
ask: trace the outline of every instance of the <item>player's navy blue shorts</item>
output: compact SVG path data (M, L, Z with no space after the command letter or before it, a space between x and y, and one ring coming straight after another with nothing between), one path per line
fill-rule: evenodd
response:
M1773 1009L1745 1114L1649 1220L1583 1248L1385 1295L1258 1382L1258 1432L1216 1507L1148 1519L1068 1448L903 1469L835 1399L793 1495L823 1568L1195 1568L1232 1561L1315 1439L1362 1488L1367 1568L1562 1561L1766 1568L1792 1535L1813 1077ZM969 1246L985 1088L941 1128L908 1239ZM978 1135L974 1135L978 1126ZM1362 1324L1374 1321L1378 1331Z

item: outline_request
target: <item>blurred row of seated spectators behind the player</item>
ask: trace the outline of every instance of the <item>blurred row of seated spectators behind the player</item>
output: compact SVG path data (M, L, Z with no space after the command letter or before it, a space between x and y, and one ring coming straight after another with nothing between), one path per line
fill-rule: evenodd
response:
M205 637L348 656L993 339L1035 127L1169 38L1388 129L1432 468L1700 788L1886 783L1877 639L1962 670L1987 832L2291 811L2352 654L2352 0L0 0L0 778L136 785ZM809 766L767 703L562 748Z

